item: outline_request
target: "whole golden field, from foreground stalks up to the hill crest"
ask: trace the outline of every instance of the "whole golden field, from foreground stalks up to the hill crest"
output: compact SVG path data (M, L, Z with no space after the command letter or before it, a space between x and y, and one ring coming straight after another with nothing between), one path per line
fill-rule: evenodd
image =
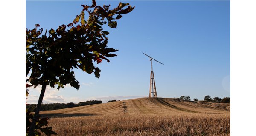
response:
M140 98L41 113L59 136L230 136L230 104Z

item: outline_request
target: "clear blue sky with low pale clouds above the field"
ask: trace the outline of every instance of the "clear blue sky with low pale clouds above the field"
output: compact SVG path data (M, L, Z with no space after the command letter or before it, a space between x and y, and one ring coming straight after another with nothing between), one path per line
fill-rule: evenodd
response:
M115 8L119 1L96 1ZM127 1L122 1L126 3ZM76 70L77 91L67 85L47 88L44 102L132 99L147 97L150 61L158 97L191 99L230 97L230 1L128 1L134 11L125 14L110 32L108 47L119 49L110 63L102 61L99 79ZM91 1L26 1L26 28L39 23L44 30L68 24ZM40 88L29 90L36 103Z

